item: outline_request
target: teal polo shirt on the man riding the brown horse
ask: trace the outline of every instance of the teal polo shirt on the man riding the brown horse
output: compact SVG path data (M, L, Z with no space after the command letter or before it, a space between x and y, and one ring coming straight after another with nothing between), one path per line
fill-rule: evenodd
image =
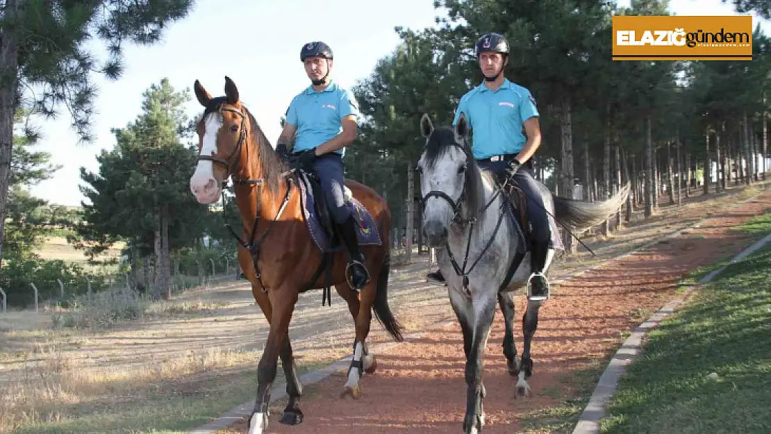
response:
M355 96L348 89L342 89L335 82L329 83L321 92L308 86L291 100L286 121L297 129L292 152L310 150L332 139L342 132L340 120L354 115L359 120L359 106ZM345 148L336 150L342 155Z

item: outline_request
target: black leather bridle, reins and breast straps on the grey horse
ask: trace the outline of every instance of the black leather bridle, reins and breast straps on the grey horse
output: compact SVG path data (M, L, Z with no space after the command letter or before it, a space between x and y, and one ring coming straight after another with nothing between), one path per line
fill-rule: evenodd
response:
M470 157L469 153L466 153L465 148L463 146L460 146L460 144L453 143L453 146L456 146L460 150L463 151L463 153L466 154L467 157ZM490 198L489 201L487 201L487 204L485 204L484 207L480 210L480 215L484 214L484 212L487 210L487 208L490 207L490 205L493 204L493 202L497 199L497 197L500 195L501 189L500 187L495 187L495 193L493 193L493 197ZM463 266L461 267L458 264L458 261L455 258L455 255L453 255L453 252L449 250L449 243L445 244L445 250L447 251L447 256L449 257L450 264L453 265L453 269L455 270L455 273L460 276L463 280L463 291L466 291L466 294L471 294L471 291L469 291L469 274L471 271L473 271L474 267L476 267L476 264L479 264L479 261L484 256L485 252L487 252L487 249L490 248L491 245L493 245L493 241L495 241L495 237L498 234L498 231L500 230L500 224L503 223L503 217L506 216L506 204L507 201L504 200L501 202L500 205L500 214L498 216L497 224L495 225L495 230L493 230L493 234L490 235L490 239L487 241L487 244L485 244L485 247L482 249L479 257L476 257L476 261L471 264L468 270L466 270L466 264L469 260L469 253L471 249L471 235L474 230L474 225L476 224L476 217L470 217L467 219L463 219L463 217L460 216L461 207L463 206L463 202L466 199L466 183L463 183L463 190L460 192L460 196L458 197L458 200L453 200L452 197L449 197L449 195L443 191L440 190L431 190L428 193L426 193L425 196L423 196L423 199L420 201L420 206L423 207L425 210L425 204L426 200L429 200L431 197L439 197L440 199L446 200L447 203L449 203L449 206L453 208L453 211L455 214L453 215L453 220L451 220L451 224L458 224L460 227L465 227L466 224L469 225L469 236L466 239L466 254L463 255ZM511 279L511 274L513 274L513 270L516 270L517 267L519 267L519 263L522 261L522 255L517 255L517 257L514 258L513 263L509 267L509 272L507 272L507 278L503 283L501 284L501 288L503 288L507 281Z

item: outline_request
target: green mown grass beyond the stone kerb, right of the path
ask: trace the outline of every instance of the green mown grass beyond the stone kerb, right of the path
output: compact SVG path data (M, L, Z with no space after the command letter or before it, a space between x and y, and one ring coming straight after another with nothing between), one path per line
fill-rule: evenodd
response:
M767 234L771 214L736 229ZM651 331L609 403L601 432L771 432L769 270L771 247L765 247L730 264L687 308Z

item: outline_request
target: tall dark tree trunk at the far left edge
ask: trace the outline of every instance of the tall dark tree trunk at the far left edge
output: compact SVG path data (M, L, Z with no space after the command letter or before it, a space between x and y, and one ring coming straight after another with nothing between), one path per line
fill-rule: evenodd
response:
M22 12L24 0L6 0L2 12L5 22L12 22ZM16 90L19 88L19 35L6 25L0 35L0 267L5 240L5 217L8 215L8 181L11 177L13 152L13 117Z

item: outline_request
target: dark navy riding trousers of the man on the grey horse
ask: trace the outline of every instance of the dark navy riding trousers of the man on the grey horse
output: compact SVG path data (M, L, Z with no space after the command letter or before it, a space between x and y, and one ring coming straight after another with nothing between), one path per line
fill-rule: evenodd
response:
M503 182L508 176L504 171L508 165L507 161L476 160L480 167L496 174L499 180ZM530 218L530 232L533 241L536 243L548 243L551 241L551 228L544 208L544 200L540 195L538 183L535 180L535 174L530 164L524 164L514 175L525 196L527 196L527 216ZM524 228L523 228L524 229Z

